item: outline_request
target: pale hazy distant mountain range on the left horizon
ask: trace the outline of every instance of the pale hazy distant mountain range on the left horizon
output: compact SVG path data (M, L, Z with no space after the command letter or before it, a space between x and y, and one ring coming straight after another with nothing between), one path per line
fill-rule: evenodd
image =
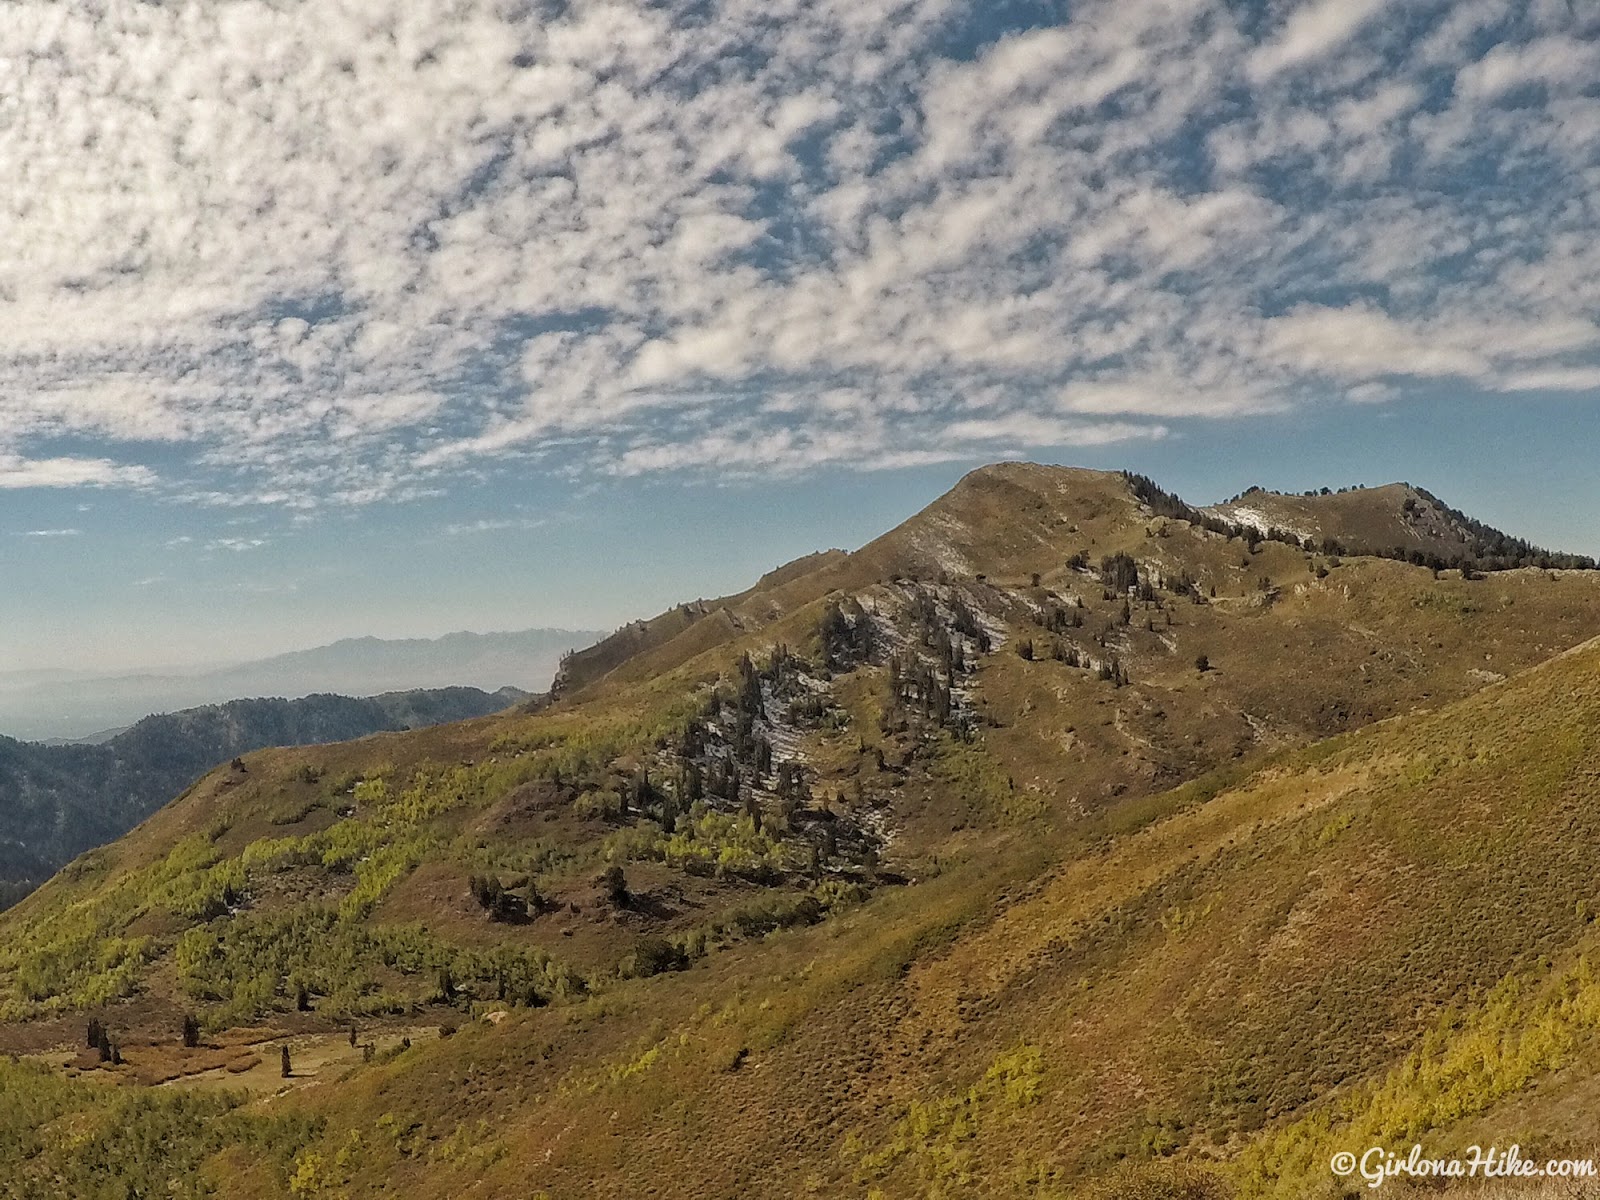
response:
M34 741L104 741L154 712L240 696L376 696L453 686L544 691L562 654L600 637L570 629L403 640L360 637L192 672L0 672L0 731Z

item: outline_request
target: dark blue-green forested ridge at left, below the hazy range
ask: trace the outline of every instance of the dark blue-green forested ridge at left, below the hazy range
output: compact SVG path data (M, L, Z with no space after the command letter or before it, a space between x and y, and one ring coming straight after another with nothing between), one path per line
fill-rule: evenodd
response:
M526 698L514 688L443 688L363 699L240 699L146 717L93 744L0 738L0 902L26 894L90 846L120 837L235 755L458 722Z

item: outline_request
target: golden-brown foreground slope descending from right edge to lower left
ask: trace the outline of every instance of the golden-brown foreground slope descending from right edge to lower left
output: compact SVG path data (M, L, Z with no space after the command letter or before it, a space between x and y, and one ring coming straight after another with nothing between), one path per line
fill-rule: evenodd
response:
M1587 646L1173 794L1034 883L1040 848L974 850L819 930L418 1048L330 1096L323 1144L410 1131L354 1194L1070 1195L1170 1155L1307 1195L1334 1149L1491 1122L1563 1066L1592 1128L1597 730ZM477 1120L470 1163L418 1154Z

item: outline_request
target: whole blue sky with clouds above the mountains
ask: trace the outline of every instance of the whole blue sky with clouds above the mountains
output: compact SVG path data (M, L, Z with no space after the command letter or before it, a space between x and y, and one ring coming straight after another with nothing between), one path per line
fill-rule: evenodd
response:
M19 0L0 670L608 629L981 462L1600 552L1586 0Z

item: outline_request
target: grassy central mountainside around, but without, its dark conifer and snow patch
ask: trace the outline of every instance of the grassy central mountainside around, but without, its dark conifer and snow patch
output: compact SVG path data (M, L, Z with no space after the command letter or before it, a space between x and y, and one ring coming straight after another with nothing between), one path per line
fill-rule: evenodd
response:
M1146 579L1186 578L1194 589L1130 600L1069 562L1109 554L1131 555ZM987 570L952 574L958 566ZM914 568L930 574L910 581ZM648 830L597 818L584 789L614 790L651 765L659 778L664 739L739 654L789 643L814 656L832 602L904 632L918 600L960 598L1002 638L963 680L974 741L885 728L877 664L827 682L834 715L803 739L816 803L875 811L893 830L885 867L909 878L997 829L1070 830L1219 765L1459 699L1600 630L1597 573L1438 579L1397 562L1251 549L1152 515L1122 475L1029 464L974 472L858 554L790 565L746 597L742 616L725 608L694 621L539 712L264 754L213 773L0 917L0 1002L37 1016L131 997L139 1019L166 1024L186 1005L222 1005L210 1019L227 1024L282 1010L299 973L320 1006L331 968L291 954L277 987L246 1003L232 984L203 987L189 954L202 926L254 928L315 906L336 909L362 954L386 962L397 954L386 939L422 925L429 963L538 952L594 974L614 970L640 934L686 938L765 902L749 882L642 854ZM1077 624L1046 629L1050 613L1069 610ZM1018 653L1024 642L1032 659ZM1131 682L1061 661L1067 648L1115 658ZM1195 669L1200 654L1206 672ZM582 779L574 755L589 763ZM541 792L562 763L566 790ZM613 861L650 906L608 915L597 904L594 878ZM486 923L467 898L469 877L485 872L536 880L554 912L526 926ZM248 896L243 912L218 907L229 886ZM323 1011L403 1011L426 998L430 970L374 968L362 997Z

